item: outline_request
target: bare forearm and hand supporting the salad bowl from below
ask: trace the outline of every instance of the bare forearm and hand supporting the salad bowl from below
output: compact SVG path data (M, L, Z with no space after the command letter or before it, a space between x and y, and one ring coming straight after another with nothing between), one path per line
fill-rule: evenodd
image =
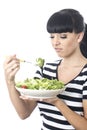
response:
M84 116L72 111L61 99L44 99L44 101L55 105L76 130L87 130L87 100L83 101Z

